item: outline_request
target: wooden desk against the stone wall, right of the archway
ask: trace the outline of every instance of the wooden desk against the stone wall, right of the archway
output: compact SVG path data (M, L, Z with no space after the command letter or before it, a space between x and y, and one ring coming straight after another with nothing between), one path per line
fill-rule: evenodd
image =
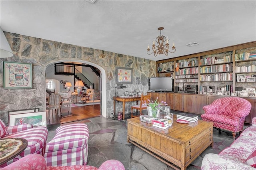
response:
M136 104L138 105L138 101L140 101L141 96L134 95L134 96L114 96L114 116L116 117L116 101L123 102L123 120L124 120L124 113L125 113L125 103L129 101L136 101Z

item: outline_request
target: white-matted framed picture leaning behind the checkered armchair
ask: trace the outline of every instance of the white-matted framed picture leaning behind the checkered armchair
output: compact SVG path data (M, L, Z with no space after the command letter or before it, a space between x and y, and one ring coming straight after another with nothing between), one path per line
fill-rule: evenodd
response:
M46 111L9 115L9 126L22 124L46 127Z

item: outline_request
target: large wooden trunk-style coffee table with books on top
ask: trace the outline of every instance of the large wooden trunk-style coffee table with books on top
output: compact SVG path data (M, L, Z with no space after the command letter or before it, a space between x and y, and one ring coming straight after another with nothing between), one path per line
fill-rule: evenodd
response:
M128 119L127 140L176 170L185 170L208 146L213 146L213 123L191 126L174 122L167 129L153 127L139 117Z

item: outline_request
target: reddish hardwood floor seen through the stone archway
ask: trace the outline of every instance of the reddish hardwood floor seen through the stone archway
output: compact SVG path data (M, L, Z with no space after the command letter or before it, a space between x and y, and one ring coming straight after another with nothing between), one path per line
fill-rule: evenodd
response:
M50 112L50 121L49 118L47 121L47 125L55 125L61 123L68 123L73 121L79 121L83 119L89 119L92 117L99 117L100 114L100 104L97 105L87 105L87 106L78 106L71 107L71 113L68 114L68 108L62 107L62 117L59 118L57 113L53 110ZM46 111L46 115L48 116L48 111Z

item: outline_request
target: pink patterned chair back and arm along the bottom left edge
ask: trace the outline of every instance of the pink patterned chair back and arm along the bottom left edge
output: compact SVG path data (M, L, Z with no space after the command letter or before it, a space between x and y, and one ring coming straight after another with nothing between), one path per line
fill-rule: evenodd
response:
M107 160L99 168L88 165L46 166L42 155L30 154L4 167L3 170L125 170L125 168L118 160Z

